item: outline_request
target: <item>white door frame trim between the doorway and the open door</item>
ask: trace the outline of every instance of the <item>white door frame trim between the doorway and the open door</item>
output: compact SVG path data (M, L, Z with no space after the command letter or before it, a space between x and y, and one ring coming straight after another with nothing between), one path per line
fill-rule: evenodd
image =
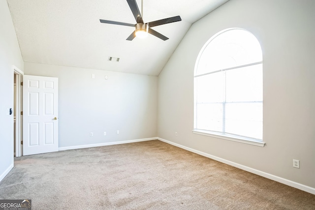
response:
M22 111L22 86L21 86L21 82L23 81L24 72L21 69L19 69L18 67L16 67L15 65L12 65L12 73L13 73L13 77L14 77L14 74L16 74L16 79L15 79L15 83L16 83L16 107L13 108L13 109L16 108L16 110L15 110L16 111L15 156L20 157L23 155L22 145L21 145L22 136L23 136L22 135L22 115L21 115L21 111ZM12 101L12 103L14 104L14 101ZM13 126L14 126L14 124L13 124ZM14 148L12 148L12 149L14 150Z

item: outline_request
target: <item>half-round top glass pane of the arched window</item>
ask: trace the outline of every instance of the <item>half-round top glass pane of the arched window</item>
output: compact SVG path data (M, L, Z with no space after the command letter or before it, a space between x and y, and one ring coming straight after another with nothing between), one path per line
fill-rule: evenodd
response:
M200 56L196 75L262 61L256 37L243 29L226 30L213 38Z

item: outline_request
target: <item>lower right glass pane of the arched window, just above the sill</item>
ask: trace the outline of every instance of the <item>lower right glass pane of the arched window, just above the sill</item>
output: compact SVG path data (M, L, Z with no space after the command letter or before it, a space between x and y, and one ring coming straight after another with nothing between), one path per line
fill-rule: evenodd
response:
M225 132L262 139L262 103L226 103Z

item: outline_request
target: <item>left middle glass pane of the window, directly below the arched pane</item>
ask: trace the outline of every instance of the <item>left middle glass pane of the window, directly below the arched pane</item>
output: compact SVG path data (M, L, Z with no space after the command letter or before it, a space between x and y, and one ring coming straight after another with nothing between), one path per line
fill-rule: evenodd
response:
M217 72L195 78L197 103L223 102L224 73Z

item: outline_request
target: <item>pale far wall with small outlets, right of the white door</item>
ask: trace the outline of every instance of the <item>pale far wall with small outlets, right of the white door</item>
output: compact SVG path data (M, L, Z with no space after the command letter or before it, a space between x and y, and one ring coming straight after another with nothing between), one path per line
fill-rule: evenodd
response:
M59 78L60 148L157 137L158 77L31 62L24 69Z

